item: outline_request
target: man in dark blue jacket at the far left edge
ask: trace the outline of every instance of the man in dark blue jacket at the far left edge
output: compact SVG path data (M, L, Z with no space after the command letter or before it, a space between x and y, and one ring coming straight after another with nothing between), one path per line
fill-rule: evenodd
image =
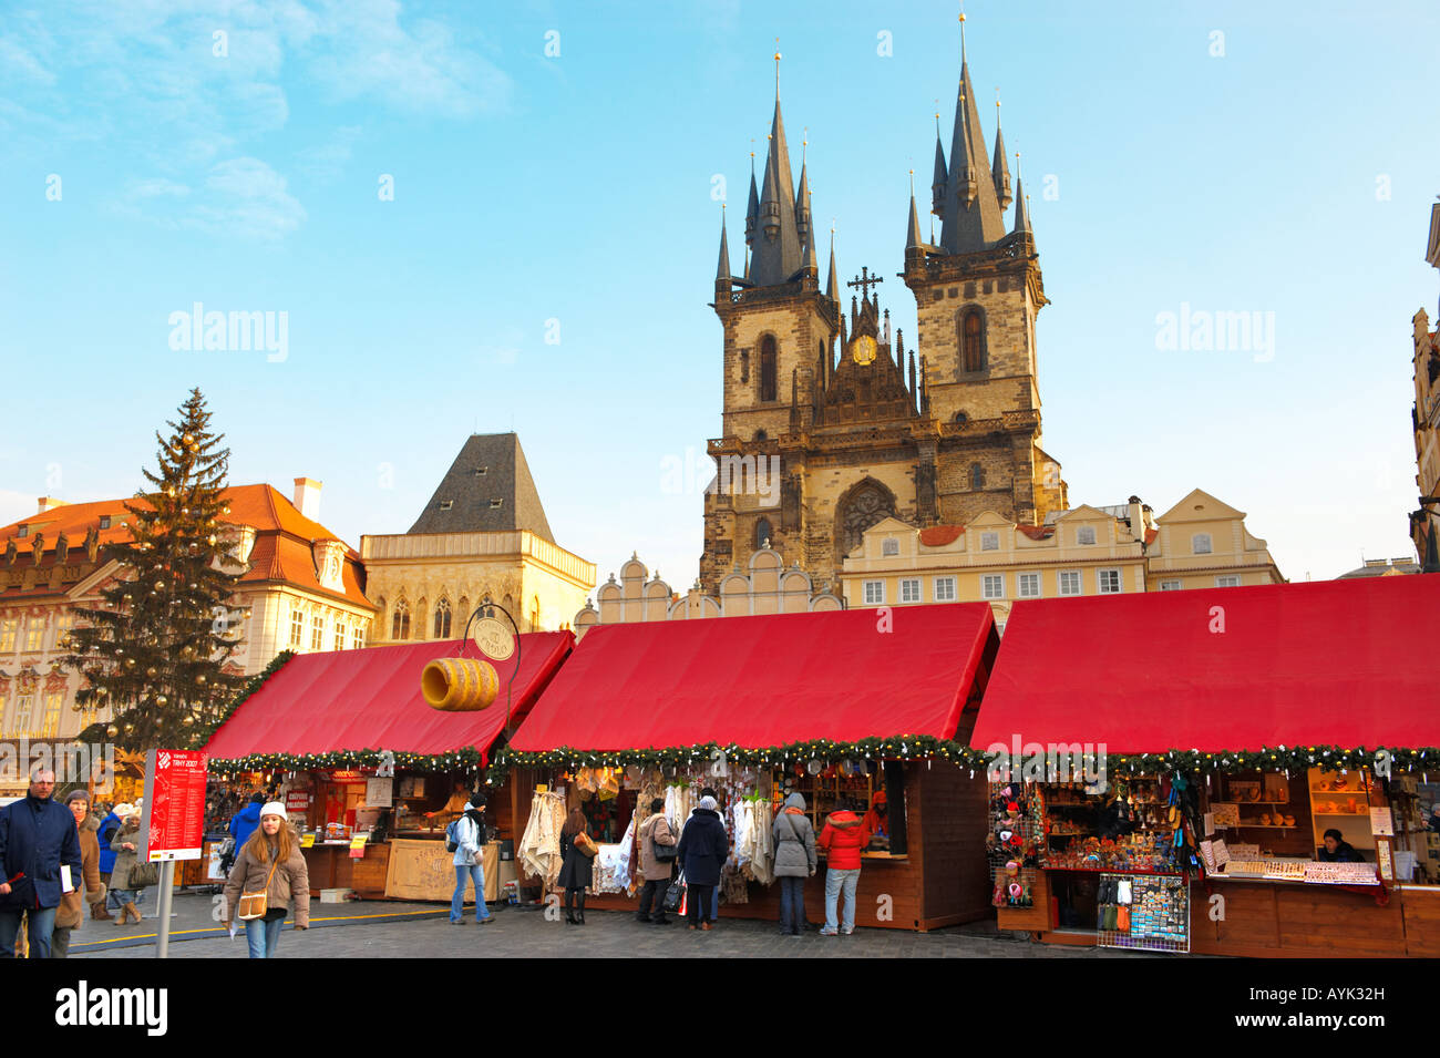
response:
M55 911L60 905L60 868L68 867L71 887L82 884L81 838L75 816L56 805L55 772L40 769L29 793L0 808L0 959L14 957L20 915L29 914L30 957L50 957Z

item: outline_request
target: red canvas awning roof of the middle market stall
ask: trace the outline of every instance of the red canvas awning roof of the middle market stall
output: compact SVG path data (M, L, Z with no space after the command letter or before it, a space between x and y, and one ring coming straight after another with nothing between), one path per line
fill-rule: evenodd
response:
M985 603L600 625L516 731L516 750L766 749L952 737L996 646ZM986 656L986 649L991 651Z

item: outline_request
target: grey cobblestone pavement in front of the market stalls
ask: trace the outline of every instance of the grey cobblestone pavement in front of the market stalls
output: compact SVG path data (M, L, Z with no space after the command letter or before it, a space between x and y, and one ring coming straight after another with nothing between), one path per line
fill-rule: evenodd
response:
M245 937L230 940L210 920L210 897L179 894L173 918L171 959L245 959ZM154 907L150 908L154 911ZM72 959L153 959L156 923L115 927L91 923L73 934ZM449 924L449 908L438 904L363 901L311 903L311 928L281 934L279 959L474 959L474 957L913 957L913 959L1135 959L1130 951L1034 944L996 934L992 923L906 933L857 930L850 937L782 937L775 923L721 918L710 933L683 923L647 926L629 913L588 911L586 926L547 921L540 911L501 908L492 926L477 926L467 908L464 926Z

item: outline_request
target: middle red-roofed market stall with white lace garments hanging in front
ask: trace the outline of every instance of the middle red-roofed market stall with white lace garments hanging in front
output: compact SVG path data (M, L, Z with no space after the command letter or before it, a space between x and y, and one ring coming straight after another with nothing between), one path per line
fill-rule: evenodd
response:
M526 820L521 872L554 882L559 826L580 808L600 844L590 905L634 910L638 819L658 797L678 829L710 786L732 845L720 914L778 918L770 825L798 792L816 831L841 797L886 806L858 924L984 917L985 782L949 754L996 648L979 603L598 626L491 769ZM824 875L822 859L811 921Z

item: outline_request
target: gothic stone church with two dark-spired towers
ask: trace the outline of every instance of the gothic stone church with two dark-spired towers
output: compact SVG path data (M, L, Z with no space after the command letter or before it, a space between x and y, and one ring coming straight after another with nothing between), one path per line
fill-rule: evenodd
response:
M1041 524L1066 508L1060 465L1040 446L1035 314L1047 302L1035 239L1018 180L1005 229L1004 140L996 128L992 166L963 45L949 161L939 135L935 154L940 240L922 239L912 191L899 276L920 322L907 360L868 268L847 284L858 289L847 318L834 238L821 291L809 183L804 164L792 183L776 96L740 276L720 227L724 406L708 446L704 590L766 546L838 589L845 554L891 515L923 527L995 511Z

